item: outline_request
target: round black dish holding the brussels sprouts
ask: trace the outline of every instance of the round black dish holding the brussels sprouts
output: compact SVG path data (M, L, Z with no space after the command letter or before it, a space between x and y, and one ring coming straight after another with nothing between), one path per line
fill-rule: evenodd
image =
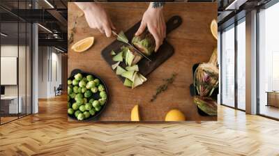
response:
M105 104L103 104L100 111L96 111L96 114L94 114L94 116L90 116L89 118L86 118L84 120L79 120L79 121L98 120L98 117L100 116L100 114L103 113L103 111L105 110L105 107L107 105L107 102L109 101L109 92L108 92L107 86L105 85L105 82L103 81L103 79L101 79L98 75L91 73L91 72L82 72L82 70L78 70L78 69L73 70L70 74L71 76L68 79L71 79L71 80L75 79L74 76L77 73L82 74L82 77L86 77L87 75L92 75L94 77L94 79L96 79L96 78L100 79L100 84L103 84L103 86L105 87L105 92L107 93L107 100L106 100ZM100 98L99 91L97 93L93 93L90 98L99 99ZM70 99L69 102L72 105L75 102L75 99ZM68 116L70 118L72 118L73 120L77 120L77 118L75 117L75 114L72 114L72 115L68 114Z

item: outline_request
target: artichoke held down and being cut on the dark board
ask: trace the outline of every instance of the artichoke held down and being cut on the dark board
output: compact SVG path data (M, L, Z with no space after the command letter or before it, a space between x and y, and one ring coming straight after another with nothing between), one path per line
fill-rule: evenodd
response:
M140 34L140 36L134 36L132 44L135 45L140 52L146 54L147 56L154 52L156 46L155 39L149 31L144 31Z

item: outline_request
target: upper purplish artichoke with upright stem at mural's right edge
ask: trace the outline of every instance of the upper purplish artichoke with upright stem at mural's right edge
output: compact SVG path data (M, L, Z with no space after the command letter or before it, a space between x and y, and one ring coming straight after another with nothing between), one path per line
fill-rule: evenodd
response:
M200 96L211 96L214 89L218 87L218 83L217 50L214 49L209 62L199 64L195 70L194 85Z

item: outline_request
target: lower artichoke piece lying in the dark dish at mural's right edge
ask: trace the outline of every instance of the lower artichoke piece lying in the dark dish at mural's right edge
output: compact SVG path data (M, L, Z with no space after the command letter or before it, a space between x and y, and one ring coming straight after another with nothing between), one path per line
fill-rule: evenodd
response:
M217 104L215 100L208 97L195 96L194 103L209 116L217 116Z

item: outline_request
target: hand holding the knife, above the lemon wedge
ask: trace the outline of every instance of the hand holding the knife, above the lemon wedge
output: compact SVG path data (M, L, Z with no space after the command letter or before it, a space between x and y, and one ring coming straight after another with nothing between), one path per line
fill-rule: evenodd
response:
M107 37L112 35L115 27L101 6L96 3L75 3L83 10L85 19L91 28L99 29L100 33L105 33Z

